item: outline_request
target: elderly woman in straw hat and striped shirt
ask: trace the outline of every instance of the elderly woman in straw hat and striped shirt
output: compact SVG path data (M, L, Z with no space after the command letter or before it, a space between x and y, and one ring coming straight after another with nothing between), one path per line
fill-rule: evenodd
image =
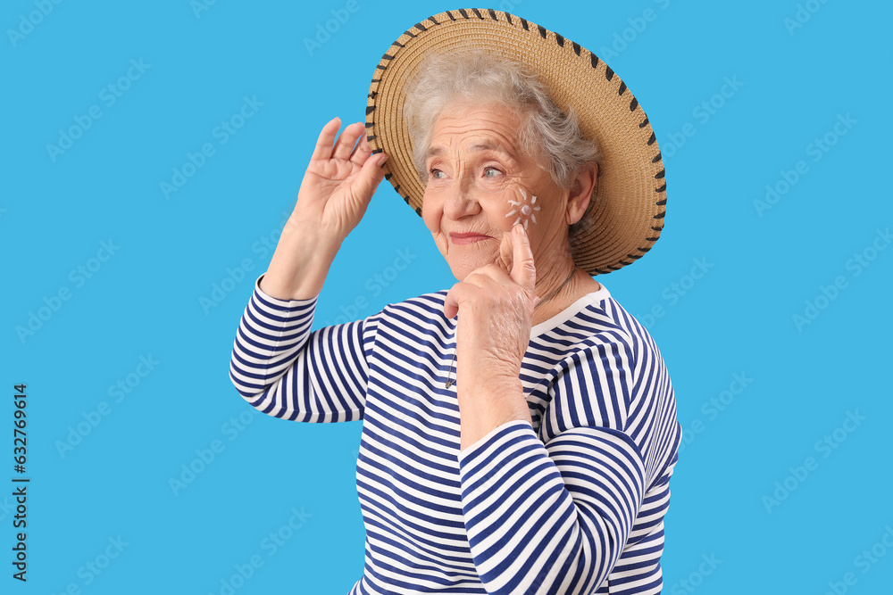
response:
M322 128L230 366L268 415L363 420L366 564L351 592L660 592L672 386L592 277L663 227L638 102L580 45L463 10L397 40L366 113ZM311 332L382 178L457 282Z

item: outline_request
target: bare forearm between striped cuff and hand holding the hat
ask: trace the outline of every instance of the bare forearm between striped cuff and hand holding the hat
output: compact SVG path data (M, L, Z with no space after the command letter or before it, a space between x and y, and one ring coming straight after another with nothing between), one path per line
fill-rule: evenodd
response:
M292 214L261 279L261 291L280 300L316 297L340 246L340 240Z

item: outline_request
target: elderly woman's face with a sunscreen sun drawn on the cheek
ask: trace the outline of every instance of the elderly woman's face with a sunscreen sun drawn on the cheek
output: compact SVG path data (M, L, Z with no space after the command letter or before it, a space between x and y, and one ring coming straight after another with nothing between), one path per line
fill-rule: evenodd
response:
M522 150L518 128L498 104L457 106L435 123L421 214L460 281L500 260L519 220L538 267L566 253L569 193Z

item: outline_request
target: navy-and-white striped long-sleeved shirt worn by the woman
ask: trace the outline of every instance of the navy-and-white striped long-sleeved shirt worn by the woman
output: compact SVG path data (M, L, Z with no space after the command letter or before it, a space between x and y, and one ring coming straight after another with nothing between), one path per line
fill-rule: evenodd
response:
M446 291L311 332L316 300L272 298L261 278L233 344L238 392L272 417L363 420L350 595L661 591L680 425L654 340L604 286L532 328L532 426L460 451Z

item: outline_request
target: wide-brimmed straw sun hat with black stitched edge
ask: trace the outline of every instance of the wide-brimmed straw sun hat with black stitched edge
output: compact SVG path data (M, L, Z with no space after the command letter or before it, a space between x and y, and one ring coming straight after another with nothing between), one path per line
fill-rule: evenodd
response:
M366 103L366 133L373 153L384 151L385 178L421 215L425 188L413 165L413 144L403 116L405 83L432 53L472 42L491 54L525 64L563 111L572 107L587 138L601 153L588 237L576 262L589 275L609 273L648 252L663 229L666 184L655 133L630 89L587 49L508 12L441 12L401 35L381 57Z

